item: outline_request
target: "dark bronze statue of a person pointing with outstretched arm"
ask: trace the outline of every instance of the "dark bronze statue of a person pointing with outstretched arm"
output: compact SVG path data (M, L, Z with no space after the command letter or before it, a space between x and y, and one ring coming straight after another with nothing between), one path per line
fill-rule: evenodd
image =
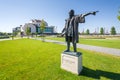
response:
M96 15L98 11L89 12L87 14L74 15L74 10L70 10L69 18L65 21L65 27L62 30L62 36L65 35L67 42L67 50L64 52L70 51L70 42L73 44L74 52L77 52L76 43L79 41L78 26L79 23L85 23L85 17L88 15Z

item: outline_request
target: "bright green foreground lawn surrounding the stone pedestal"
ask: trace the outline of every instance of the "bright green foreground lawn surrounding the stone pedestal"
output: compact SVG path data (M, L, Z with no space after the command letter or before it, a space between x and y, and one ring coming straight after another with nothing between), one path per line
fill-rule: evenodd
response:
M60 54L65 48L31 39L0 41L0 80L120 79L120 57L82 49L81 74L62 70Z

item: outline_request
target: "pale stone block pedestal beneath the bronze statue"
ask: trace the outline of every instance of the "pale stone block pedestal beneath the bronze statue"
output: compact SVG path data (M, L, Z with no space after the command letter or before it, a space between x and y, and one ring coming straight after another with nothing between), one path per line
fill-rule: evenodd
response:
M63 52L61 54L61 68L79 75L82 71L82 53Z

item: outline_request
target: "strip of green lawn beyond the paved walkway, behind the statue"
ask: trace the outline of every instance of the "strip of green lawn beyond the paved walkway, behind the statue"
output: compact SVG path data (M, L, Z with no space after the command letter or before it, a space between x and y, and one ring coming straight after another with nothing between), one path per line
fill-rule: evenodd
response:
M64 38L57 38L57 37L53 37L53 38L48 37L47 39L65 41ZM120 39L82 39L80 38L79 43L120 49L120 45L119 45Z

